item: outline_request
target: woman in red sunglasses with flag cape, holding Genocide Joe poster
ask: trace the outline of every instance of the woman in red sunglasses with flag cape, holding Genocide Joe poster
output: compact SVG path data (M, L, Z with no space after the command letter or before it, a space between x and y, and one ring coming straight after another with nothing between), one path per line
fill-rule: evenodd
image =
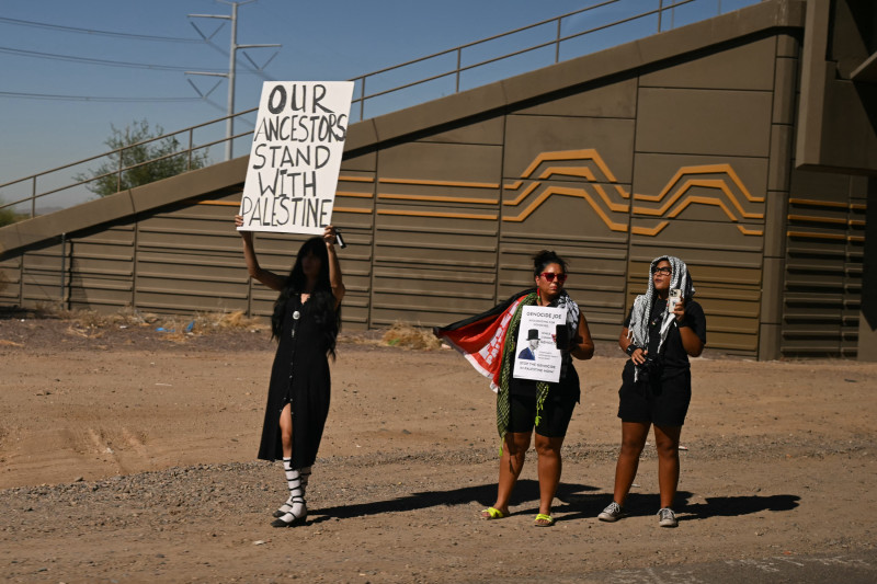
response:
M533 256L533 277L535 288L434 332L490 377L497 391L497 430L502 440L499 484L497 502L481 512L481 518L501 519L509 515L509 500L535 430L539 513L534 525L550 527L555 523L551 503L562 467L560 447L580 394L572 357L590 359L594 343L584 314L563 289L567 263L553 251L540 251ZM539 323L540 318L554 318L549 322L557 324L539 333L546 342L531 344L536 335L529 325L522 325L522 320ZM535 351L534 358L524 348ZM554 369L553 359L557 364ZM546 370L550 375L543 373ZM556 379L549 380L551 376Z

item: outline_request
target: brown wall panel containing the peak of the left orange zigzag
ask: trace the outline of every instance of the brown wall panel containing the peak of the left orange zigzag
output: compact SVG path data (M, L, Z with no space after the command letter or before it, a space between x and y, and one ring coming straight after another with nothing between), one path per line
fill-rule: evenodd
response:
M633 119L510 115L505 129L503 175L506 180L526 178L527 169L534 162L545 160L548 152L588 150L574 158L596 159L612 173L612 178L595 174L597 181L629 183L634 128ZM542 162L543 165L558 163Z

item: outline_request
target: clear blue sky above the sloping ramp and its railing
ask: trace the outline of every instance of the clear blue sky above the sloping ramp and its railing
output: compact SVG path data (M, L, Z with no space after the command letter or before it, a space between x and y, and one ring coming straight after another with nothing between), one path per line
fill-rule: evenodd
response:
M728 12L756 1L696 0L677 9L675 25L715 15L719 4ZM595 3L597 0L258 0L242 4L238 8L237 43L283 46L246 50L260 66L271 59L261 73L253 70L244 51L238 51L236 111L258 105L265 80L353 79ZM620 0L565 21L563 34L657 7L658 0ZM228 71L230 24L189 14L230 15L231 7L213 0L3 1L0 184L107 150L103 142L111 125L124 128L146 119L151 126L175 130L224 116L226 80L191 77L185 71ZM213 44L203 42L193 27L195 23L209 34L224 22ZM590 48L652 32L654 19L643 20L595 38ZM515 42L520 47L547 38L536 36ZM586 51L585 44L570 50ZM471 58L478 55L472 53ZM510 72L516 66L510 64ZM526 70L527 66L522 66ZM492 75L508 76L501 66ZM202 92L220 83L202 99L189 80ZM224 148L214 147L209 153L213 160L221 160ZM246 148L236 146L235 156L243 153ZM0 190L4 201L27 194L30 184ZM83 194L66 194L41 205L67 206L84 198Z

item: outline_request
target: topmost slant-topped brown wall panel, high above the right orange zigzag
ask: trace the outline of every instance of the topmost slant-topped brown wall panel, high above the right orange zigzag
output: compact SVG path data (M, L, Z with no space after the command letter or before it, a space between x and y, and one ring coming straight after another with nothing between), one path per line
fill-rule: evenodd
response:
M771 36L697 59L686 58L680 65L641 76L639 84L770 91L774 87L775 54L776 38Z

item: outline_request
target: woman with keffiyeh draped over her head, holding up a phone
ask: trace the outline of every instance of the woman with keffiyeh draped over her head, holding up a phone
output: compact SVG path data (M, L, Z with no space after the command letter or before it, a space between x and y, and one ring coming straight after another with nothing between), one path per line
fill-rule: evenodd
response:
M661 491L658 524L675 527L672 506L679 484L679 438L692 398L688 355L696 357L704 350L706 317L692 299L694 285L682 260L657 257L649 276L649 289L637 296L618 339L622 351L630 356L618 390L622 449L615 467L615 497L599 518L616 522L624 515L639 455L653 424ZM673 308L668 306L671 290L680 290Z

